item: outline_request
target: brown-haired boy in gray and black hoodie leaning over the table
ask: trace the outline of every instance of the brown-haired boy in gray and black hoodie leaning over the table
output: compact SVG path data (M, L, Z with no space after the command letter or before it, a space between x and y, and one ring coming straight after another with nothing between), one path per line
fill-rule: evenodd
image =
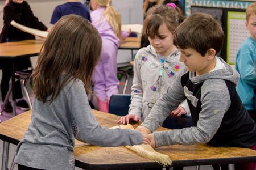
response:
M220 23L208 14L192 14L175 29L174 44L180 49L180 61L186 68L137 128L150 134L152 147L208 143L256 150L256 124L236 91L239 74L215 56L223 40ZM184 99L194 126L154 132Z

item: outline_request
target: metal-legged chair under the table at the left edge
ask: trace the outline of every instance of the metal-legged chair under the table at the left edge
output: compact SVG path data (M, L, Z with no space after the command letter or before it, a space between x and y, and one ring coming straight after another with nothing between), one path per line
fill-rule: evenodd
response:
M30 109L32 109L32 103L31 103L31 100L30 100L30 96L28 95L26 82L27 82L28 78L30 78L31 72L32 72L32 70L16 71L15 72L15 76L16 76L15 80L20 80L20 82L22 82L22 88L23 88L24 93L26 95L27 103L28 103L28 106L30 107ZM11 94L11 87L9 87L9 90L7 92L5 100L3 101L3 105L2 105L2 108L1 108L0 115L2 114L3 108L5 107L7 101L9 100L10 94Z

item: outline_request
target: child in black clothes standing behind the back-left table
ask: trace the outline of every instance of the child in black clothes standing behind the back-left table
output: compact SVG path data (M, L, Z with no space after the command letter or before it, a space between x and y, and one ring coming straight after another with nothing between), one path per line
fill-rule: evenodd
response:
M20 31L18 28L13 27L10 23L12 20L19 24L23 24L27 27L40 29L47 31L48 28L42 23L39 22L31 11L30 5L23 0L10 0L9 3L3 9L3 29L0 34L0 42L12 42L12 41L21 41L21 40L30 40L35 39L34 35ZM49 30L48 30L49 31ZM13 49L15 50L15 49ZM11 61L9 59L1 59L1 69L3 72L1 80L1 92L2 92L2 101L5 100L7 91L9 90L9 81L11 78ZM15 60L15 70L22 71L31 67L30 59L20 58ZM22 110L29 109L28 104L23 100L20 81L15 82L15 95L17 103L16 106L20 107ZM11 112L13 110L11 103L8 102L3 108L5 112Z

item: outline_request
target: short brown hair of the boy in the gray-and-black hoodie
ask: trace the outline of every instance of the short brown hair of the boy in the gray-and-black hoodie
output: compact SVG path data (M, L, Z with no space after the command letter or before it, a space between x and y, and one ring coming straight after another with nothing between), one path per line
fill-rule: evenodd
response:
M174 45L181 49L193 48L205 56L210 48L220 52L224 32L220 23L209 14L195 13L184 20L174 32Z

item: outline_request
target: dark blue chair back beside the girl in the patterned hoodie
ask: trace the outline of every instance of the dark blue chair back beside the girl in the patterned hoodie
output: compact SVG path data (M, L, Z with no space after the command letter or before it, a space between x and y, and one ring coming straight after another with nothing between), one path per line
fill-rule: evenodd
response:
M125 116L128 114L130 103L131 95L112 95L109 99L109 113L115 114L117 116Z

